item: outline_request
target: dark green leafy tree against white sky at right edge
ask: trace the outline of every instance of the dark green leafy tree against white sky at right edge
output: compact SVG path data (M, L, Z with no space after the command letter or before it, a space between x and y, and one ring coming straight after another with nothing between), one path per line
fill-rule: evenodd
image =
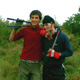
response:
M79 35L80 34L80 13L73 14L66 22L63 24L63 29L66 30L68 34Z

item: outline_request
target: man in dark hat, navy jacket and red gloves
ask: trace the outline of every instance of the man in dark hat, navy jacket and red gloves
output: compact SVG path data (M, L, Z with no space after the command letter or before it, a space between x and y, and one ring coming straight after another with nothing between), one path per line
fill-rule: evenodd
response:
M66 80L63 62L73 51L68 37L55 26L55 21L46 15L43 19L43 80Z

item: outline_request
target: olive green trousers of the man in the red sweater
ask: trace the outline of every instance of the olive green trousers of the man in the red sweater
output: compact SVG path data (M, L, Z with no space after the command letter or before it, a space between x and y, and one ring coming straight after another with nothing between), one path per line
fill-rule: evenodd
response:
M19 80L41 80L41 64L23 60L19 62Z

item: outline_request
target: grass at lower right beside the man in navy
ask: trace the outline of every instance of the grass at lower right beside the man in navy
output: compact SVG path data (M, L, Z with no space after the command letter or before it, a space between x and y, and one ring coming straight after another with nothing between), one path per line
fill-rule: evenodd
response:
M80 51L76 51L73 56L66 58L64 65L66 67L67 80L80 79Z

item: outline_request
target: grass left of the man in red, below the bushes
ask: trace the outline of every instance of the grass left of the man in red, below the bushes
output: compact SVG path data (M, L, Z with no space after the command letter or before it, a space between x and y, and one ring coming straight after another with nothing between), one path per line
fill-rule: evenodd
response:
M0 80L18 80L19 56L22 50L19 42L8 42L5 44L7 47L0 47Z

